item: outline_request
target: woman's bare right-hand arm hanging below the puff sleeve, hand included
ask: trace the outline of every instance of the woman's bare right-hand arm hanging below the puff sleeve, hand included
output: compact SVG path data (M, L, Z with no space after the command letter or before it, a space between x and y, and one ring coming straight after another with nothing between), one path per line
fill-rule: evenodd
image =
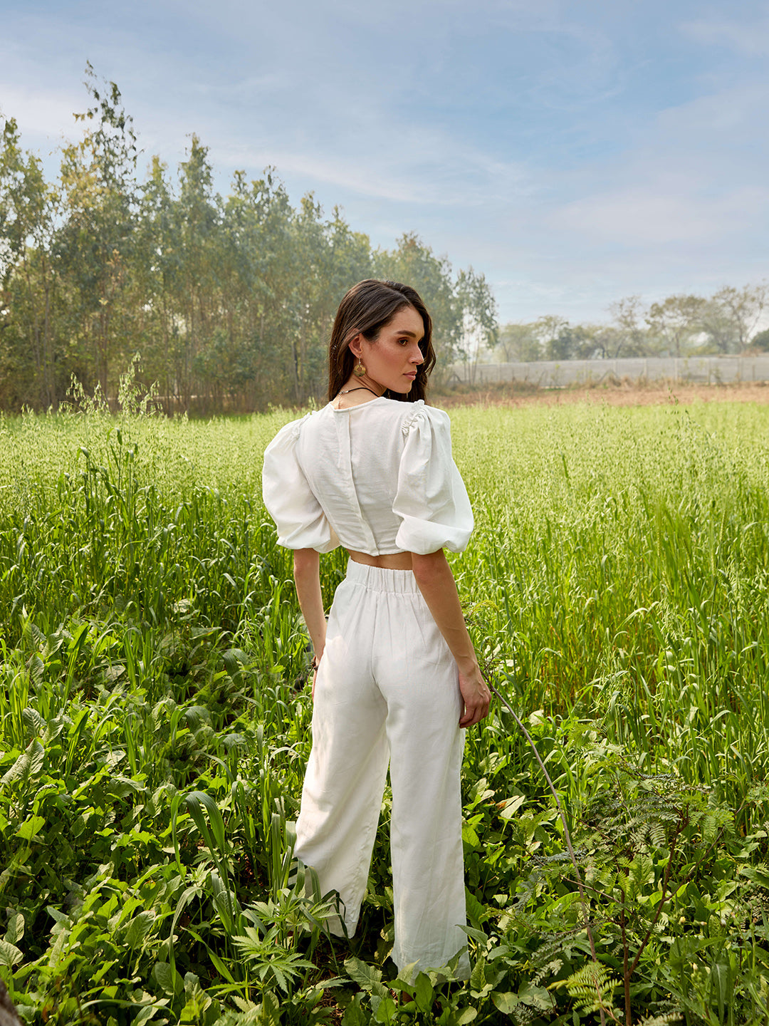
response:
M454 575L446 562L443 549L424 556L412 552L411 567L419 591L459 669L459 690L464 701L459 726L472 726L488 713L491 693L481 676L475 648L464 626Z

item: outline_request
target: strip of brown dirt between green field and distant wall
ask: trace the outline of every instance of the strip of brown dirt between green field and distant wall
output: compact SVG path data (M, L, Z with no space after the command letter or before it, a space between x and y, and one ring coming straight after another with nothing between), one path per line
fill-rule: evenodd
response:
M494 406L562 406L573 402L595 402L609 406L652 406L660 403L761 402L769 403L769 382L745 382L734 385L688 385L663 382L634 385L619 382L595 388L574 386L561 389L523 389L510 385L483 386L479 389L442 393L438 389L430 399L437 406L450 409L480 403Z

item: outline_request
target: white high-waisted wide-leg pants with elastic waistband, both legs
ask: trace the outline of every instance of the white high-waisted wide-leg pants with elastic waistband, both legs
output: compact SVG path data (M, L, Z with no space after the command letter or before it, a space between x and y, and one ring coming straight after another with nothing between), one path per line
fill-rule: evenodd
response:
M322 893L339 892L352 936L390 763L399 970L443 965L467 941L461 708L456 663L413 574L351 560L318 670L295 854Z

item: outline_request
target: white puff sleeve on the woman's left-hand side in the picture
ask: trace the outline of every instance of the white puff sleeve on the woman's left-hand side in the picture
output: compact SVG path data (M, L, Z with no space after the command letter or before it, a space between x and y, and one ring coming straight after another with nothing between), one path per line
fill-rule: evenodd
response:
M265 449L261 496L286 549L330 552L339 544L299 465L296 443L305 420L287 424Z

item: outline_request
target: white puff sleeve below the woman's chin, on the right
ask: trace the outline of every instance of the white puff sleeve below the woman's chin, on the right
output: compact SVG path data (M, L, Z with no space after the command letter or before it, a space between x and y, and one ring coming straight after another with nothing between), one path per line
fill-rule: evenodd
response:
M473 530L473 510L451 456L448 415L419 404L402 430L405 444L393 502L402 521L396 544L419 555L438 549L461 552Z

